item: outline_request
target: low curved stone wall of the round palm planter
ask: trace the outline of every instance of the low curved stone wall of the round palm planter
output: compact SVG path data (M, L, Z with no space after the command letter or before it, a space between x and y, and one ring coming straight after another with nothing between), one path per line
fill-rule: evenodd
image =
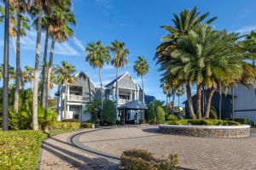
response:
M208 138L244 138L250 136L250 126L159 125L161 133Z

